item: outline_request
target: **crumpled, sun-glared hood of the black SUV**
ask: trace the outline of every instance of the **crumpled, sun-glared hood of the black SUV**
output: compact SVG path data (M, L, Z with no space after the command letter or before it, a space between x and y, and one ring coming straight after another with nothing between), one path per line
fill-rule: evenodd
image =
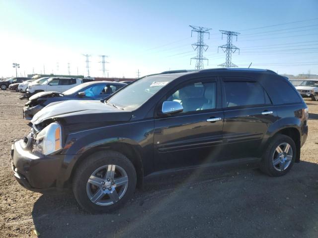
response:
M128 121L133 113L124 111L100 101L68 100L54 102L33 116L32 124L46 119L63 118L67 123L89 123L105 121Z

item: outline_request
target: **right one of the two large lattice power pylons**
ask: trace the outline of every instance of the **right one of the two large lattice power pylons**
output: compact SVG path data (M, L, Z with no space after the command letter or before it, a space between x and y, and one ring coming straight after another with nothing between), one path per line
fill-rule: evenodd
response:
M226 68L238 67L238 65L232 63L232 53L235 53L237 50L239 50L238 47L232 44L232 38L233 36L236 36L238 41L239 32L224 31L224 30L220 30L220 32L222 33L222 39L223 39L223 35L227 35L227 44L218 47L218 53L219 53L219 48L222 48L223 52L226 53L225 63L219 64L218 66L222 66Z

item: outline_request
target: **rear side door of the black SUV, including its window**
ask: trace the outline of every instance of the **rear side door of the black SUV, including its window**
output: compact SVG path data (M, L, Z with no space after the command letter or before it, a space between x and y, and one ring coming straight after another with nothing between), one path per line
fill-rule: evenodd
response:
M224 150L229 159L259 157L260 145L277 113L264 88L250 78L223 78Z

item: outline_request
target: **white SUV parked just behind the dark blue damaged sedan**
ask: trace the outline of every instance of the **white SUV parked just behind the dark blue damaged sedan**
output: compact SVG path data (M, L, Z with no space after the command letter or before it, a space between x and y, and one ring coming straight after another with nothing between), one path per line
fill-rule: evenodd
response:
M42 84L29 84L26 91L29 95L47 91L63 93L64 91L81 83L82 80L80 78L51 77L45 80Z

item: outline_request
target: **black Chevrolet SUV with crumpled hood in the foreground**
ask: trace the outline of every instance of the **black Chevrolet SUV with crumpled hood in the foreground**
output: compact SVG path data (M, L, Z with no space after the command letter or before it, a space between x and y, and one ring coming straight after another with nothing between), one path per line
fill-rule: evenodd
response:
M262 69L145 76L99 101L36 114L12 145L15 178L34 191L72 187L82 208L107 212L147 176L257 162L269 176L300 162L308 108L287 78Z

